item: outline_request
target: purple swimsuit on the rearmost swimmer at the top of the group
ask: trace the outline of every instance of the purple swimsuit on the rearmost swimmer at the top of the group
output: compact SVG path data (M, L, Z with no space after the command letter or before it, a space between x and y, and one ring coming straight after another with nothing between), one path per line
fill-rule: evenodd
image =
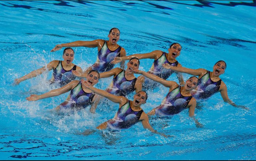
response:
M114 60L115 57L120 57L121 46L119 46L114 51L111 51L107 46L107 41L105 40L104 45L98 52L96 62L91 66L93 70L97 70L98 72L106 72L111 70L115 64L111 64L110 62Z

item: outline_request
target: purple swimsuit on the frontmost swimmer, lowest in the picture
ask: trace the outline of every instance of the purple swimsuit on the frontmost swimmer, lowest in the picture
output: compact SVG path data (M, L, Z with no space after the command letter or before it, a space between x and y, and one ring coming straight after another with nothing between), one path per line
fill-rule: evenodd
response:
M130 128L132 125L139 122L143 110L133 111L131 109L130 100L118 109L115 117L107 121L108 128L113 130L120 130Z

